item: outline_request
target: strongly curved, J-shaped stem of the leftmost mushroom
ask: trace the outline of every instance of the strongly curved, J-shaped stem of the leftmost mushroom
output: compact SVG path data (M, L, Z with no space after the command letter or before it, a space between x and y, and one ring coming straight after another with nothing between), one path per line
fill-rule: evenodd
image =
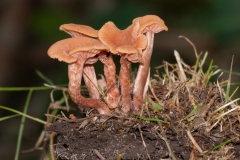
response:
M78 60L68 65L68 92L72 100L79 106L85 108L95 108L100 114L110 115L107 105L94 98L85 98L81 95L81 81L83 75L83 66L85 61Z

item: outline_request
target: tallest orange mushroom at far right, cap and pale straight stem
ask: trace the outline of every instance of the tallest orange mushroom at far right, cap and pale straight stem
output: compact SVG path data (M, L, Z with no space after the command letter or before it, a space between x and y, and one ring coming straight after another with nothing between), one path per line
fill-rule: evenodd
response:
M153 50L154 33L167 31L164 21L156 15L146 15L133 20L133 24L140 23L138 34L145 34L148 40L146 49L142 53L143 63L139 65L138 73L133 88L134 110L139 112L146 95L150 75L150 60Z

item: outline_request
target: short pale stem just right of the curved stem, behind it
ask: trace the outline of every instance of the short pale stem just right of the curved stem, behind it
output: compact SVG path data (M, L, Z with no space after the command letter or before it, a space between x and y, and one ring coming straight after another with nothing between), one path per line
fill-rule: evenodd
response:
M100 99L100 93L97 90L97 78L92 64L85 64L83 67L83 79L87 86L89 96L94 99ZM86 75L87 74L87 75Z

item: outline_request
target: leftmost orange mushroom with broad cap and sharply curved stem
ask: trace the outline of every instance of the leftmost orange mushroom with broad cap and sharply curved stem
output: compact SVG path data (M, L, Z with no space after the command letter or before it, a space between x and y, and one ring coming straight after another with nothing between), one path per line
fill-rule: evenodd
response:
M73 102L85 108L95 108L100 114L109 115L111 114L110 110L104 102L99 99L83 97L80 87L86 61L102 51L108 51L108 47L99 40L74 37L53 44L48 50L48 55L68 63L68 92Z

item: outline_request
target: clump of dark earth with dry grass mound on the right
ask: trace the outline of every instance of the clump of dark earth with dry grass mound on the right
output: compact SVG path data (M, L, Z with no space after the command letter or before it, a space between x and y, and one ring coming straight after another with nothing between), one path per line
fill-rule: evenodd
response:
M202 68L181 61L163 63L140 115L58 117L47 128L56 134L62 160L196 160L240 157L240 110L226 100L219 83ZM187 79L185 79L186 77Z

